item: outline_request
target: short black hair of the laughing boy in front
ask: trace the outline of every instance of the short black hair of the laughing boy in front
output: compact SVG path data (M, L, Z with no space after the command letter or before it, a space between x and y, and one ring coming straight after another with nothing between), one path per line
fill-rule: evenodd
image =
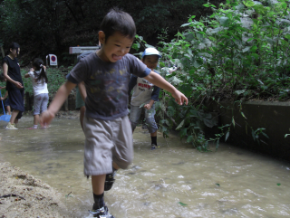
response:
M114 7L103 18L100 31L105 33L105 40L117 31L133 39L136 34L136 26L130 14Z

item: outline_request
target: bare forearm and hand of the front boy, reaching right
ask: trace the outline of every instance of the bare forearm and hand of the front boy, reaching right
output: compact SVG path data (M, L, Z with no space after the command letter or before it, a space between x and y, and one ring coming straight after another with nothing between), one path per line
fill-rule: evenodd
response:
M147 77L144 77L144 79L150 81L151 83L160 87L163 90L168 90L179 105L182 105L184 101L188 105L188 98L179 90L177 90L174 86L172 86L168 81L164 80L163 77L161 77L158 73L151 71Z

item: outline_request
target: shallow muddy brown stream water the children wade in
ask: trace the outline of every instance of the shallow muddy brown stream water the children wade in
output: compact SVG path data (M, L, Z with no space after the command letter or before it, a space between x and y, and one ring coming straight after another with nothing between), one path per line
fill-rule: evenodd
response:
M78 119L54 119L50 128L29 130L24 117L18 130L1 130L0 154L63 193L74 217L91 217L91 180L82 174L83 141ZM5 127L0 122L0 128ZM105 201L116 218L286 217L290 215L290 164L220 145L199 153L170 136L134 132L134 161L120 170ZM66 194L71 193L68 197Z

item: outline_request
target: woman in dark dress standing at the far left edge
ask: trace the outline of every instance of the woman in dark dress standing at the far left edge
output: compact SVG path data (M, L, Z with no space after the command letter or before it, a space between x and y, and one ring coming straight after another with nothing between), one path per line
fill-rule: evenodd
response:
M6 79L6 90L10 100L12 114L6 129L17 129L18 119L24 112L24 82L22 81L17 56L20 52L18 43L11 43L8 55L2 61L3 73Z

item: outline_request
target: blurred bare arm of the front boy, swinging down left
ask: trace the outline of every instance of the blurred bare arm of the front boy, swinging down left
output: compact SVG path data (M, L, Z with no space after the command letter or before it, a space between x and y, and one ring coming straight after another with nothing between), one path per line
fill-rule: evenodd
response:
M40 124L43 127L47 127L51 123L55 114L59 109L61 109L64 101L69 96L71 90L73 90L75 86L76 84L74 84L73 82L66 81L65 83L63 83L60 89L57 90L53 102L50 104L49 108L42 113L40 117Z

